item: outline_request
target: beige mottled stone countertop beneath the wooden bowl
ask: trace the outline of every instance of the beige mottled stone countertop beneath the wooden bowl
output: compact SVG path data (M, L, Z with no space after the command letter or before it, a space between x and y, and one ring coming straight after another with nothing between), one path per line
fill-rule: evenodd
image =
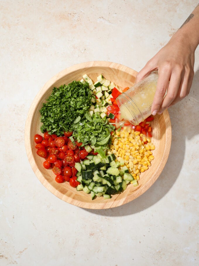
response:
M0 1L0 265L199 265L199 49L190 94L169 109L163 172L123 206L88 210L49 192L24 144L30 105L55 74L87 61L139 71L191 14L186 1Z

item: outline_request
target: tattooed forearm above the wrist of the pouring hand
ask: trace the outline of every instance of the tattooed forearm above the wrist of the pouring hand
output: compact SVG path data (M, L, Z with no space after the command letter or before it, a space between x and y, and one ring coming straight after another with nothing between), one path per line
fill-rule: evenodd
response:
M173 40L180 41L195 51L199 45L199 4L172 36L171 41Z

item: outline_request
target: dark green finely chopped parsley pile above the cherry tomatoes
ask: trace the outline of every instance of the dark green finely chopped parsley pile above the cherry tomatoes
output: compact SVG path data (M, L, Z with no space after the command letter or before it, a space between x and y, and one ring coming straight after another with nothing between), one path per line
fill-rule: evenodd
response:
M54 87L52 94L40 110L42 133L63 135L72 131L73 123L78 123L91 105L92 92L88 82L73 81L59 88Z

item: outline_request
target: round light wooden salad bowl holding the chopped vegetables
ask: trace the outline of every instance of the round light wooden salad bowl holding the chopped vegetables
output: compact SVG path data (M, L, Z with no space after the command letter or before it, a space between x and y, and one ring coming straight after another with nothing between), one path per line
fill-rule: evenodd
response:
M152 142L155 144L153 155L155 159L152 161L149 169L141 173L139 186L133 187L130 184L124 192L113 195L111 199L97 197L91 200L90 194L86 194L83 191L77 192L76 188L71 187L68 182L59 184L55 181L55 175L52 170L46 170L43 167L44 159L36 154L34 142L34 135L41 134L39 110L43 102L52 93L52 88L59 87L62 84L68 84L73 80L80 80L83 74L88 74L94 81L97 80L98 75L102 74L106 79L114 81L121 89L124 89L134 84L137 72L117 63L94 61L68 67L52 77L37 94L28 112L25 125L25 148L28 159L40 182L60 199L87 209L108 209L121 206L142 195L152 186L162 172L167 162L171 146L171 122L169 113L165 110L161 115L156 115L154 121L152 121Z

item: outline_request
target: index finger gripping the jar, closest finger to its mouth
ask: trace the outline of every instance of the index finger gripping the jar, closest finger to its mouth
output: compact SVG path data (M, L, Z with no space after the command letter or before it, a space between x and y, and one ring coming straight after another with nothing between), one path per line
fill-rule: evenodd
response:
M155 116L159 110L162 101L164 99L167 86L171 77L171 72L166 70L158 70L158 80L157 80L157 89L151 106L152 115Z

